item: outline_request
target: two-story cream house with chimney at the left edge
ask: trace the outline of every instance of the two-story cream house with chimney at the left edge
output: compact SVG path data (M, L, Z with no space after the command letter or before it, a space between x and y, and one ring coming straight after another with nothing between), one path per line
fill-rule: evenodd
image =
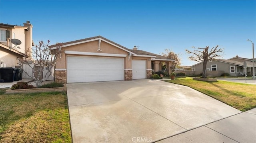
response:
M33 26L29 21L23 24L24 26L0 23L0 67L15 67L18 66L18 58L30 57L25 51L33 45ZM19 39L21 44L16 46L11 43L12 39Z

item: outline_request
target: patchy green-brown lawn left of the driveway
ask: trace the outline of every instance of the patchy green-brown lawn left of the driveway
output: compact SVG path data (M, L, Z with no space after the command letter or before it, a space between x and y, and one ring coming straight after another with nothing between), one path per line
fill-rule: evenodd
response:
M0 89L1 143L71 143L66 93L4 94Z

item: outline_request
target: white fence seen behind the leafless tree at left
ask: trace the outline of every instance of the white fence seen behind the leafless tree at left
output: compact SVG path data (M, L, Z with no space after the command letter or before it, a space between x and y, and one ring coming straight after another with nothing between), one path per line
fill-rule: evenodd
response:
M30 64L30 66L32 67L33 63ZM28 74L30 74L30 76L32 76L32 68L30 66L28 64L24 64L23 71L26 71ZM45 76L47 70L48 70L48 68L44 67L43 77ZM25 78L31 78L31 77L29 77L25 72L23 72L22 79L25 79ZM47 80L54 80L54 68L52 68L52 74L49 76L49 78Z

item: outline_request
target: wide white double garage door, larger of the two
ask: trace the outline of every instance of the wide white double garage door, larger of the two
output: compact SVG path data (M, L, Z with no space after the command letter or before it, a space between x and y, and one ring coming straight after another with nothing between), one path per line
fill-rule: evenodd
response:
M68 83L124 80L124 60L68 56Z

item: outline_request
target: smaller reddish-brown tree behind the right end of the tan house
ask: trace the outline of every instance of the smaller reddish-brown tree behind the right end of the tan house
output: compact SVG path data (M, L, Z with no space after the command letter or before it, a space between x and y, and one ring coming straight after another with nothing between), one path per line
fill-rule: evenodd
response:
M164 57L168 57L168 58L171 58L171 59L174 59L174 60L175 60L174 62L172 62L172 72L173 72L174 69L175 69L176 67L178 67L178 65L180 65L180 61L181 61L180 55L174 53L174 52L173 52L172 50L170 50L170 49L164 49L164 51L166 52L166 53L162 53L162 55L163 55ZM164 64L164 63L162 63L162 64ZM163 65L162 65L162 66L163 66Z

